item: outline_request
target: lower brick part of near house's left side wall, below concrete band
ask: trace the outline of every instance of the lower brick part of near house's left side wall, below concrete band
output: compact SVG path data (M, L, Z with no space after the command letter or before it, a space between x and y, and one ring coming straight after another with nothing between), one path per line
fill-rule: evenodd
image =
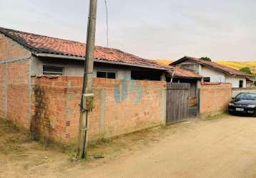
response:
M29 60L0 63L0 117L29 129Z

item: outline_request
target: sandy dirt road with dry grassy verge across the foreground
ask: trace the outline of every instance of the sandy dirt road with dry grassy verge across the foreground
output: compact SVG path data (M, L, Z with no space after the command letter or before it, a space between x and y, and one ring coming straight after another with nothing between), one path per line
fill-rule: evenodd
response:
M104 159L91 162L70 162L35 142L6 142L9 135L0 135L0 150L12 145L0 151L0 177L256 177L253 117L196 120L122 137L102 147Z

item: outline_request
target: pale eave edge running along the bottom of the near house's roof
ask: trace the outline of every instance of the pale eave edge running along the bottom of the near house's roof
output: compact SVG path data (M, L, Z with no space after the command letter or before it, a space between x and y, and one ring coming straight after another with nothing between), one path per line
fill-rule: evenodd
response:
M70 60L77 60L77 61L85 61L84 57L79 57L79 56L66 56L66 55L57 55L57 54L51 54L51 53L33 53L34 56L37 57L44 57L44 58L62 58L62 59L70 59ZM110 63L113 65L120 65L120 66L131 66L131 67L137 67L137 68L149 68L149 69L154 69L154 70L163 70L167 71L169 68L157 68L157 67L152 67L152 66L142 66L142 65L137 65L133 63L122 63L122 62L117 62L117 61L107 61L105 59L94 59L94 62L97 63Z

